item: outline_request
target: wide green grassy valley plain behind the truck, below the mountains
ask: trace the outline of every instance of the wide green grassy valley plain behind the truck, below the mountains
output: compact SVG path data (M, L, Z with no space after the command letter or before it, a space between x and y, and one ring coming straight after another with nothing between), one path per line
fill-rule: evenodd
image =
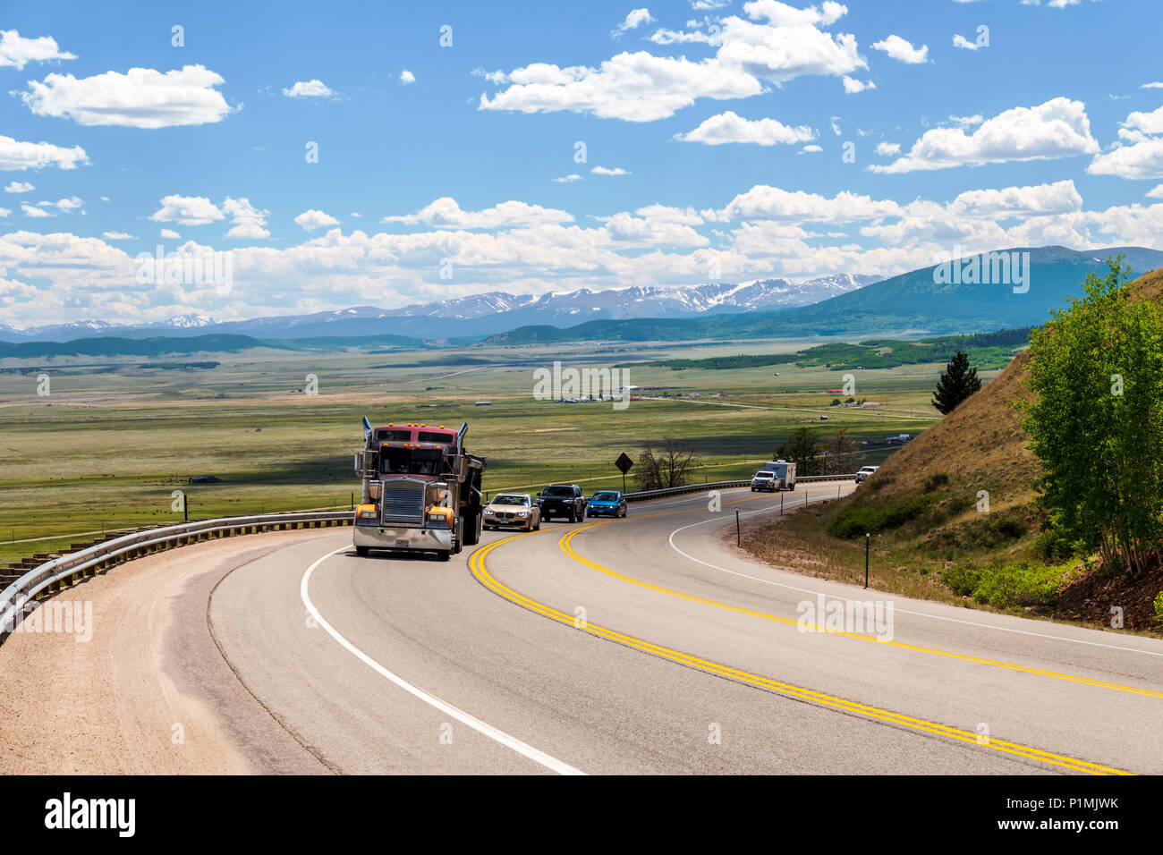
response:
M0 563L66 548L88 539L83 533L180 521L171 507L174 490L185 491L191 519L347 507L359 490L351 459L363 441L363 415L373 423L468 421L466 446L487 458L490 492L535 491L555 480L583 483L586 492L621 487L614 459L622 451L636 457L644 444L664 440L697 449L705 464L698 479L740 478L770 459L797 427L825 433L846 427L857 440L876 440L919 433L936 418L929 393L942 365L858 371L857 396L882 406L849 409L828 406L836 396L825 390L840 380L822 366L676 371L634 364L791 354L804 344L588 345L564 359L551 347L469 347L331 355L254 350L156 368L129 361L5 361ZM566 366L629 363L626 383L700 398L635 400L621 411L609 402L535 400L533 372L555 359ZM194 361L217 365L173 364ZM48 396L37 394L43 375ZM317 378L317 394L307 393L309 376ZM862 451L858 463L879 462L889 451ZM221 483L188 484L200 475ZM627 487L634 489L633 477ZM30 540L41 537L50 540Z

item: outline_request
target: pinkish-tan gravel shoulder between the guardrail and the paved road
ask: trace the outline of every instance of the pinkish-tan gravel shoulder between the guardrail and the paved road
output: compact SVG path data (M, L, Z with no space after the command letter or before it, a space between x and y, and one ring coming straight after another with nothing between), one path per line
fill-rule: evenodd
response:
M0 772L326 774L238 681L206 617L222 578L291 542L270 533L173 549L49 600L91 607L91 627L0 644Z

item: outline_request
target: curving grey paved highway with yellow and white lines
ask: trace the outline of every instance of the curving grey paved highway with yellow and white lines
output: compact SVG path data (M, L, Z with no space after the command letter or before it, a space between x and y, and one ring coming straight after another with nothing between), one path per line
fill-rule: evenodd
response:
M801 485L795 501L835 494ZM269 711L270 733L250 718L220 728L243 757L265 746L266 768L278 744L287 768L341 772L1163 771L1163 643L737 555L734 511L779 501L633 505L626 520L492 533L447 563L358 558L350 530L257 553L236 539L213 546L248 561L208 608L180 608L204 610L248 703ZM205 548L170 555L205 576ZM879 620L843 619L865 600L882 600ZM808 605L823 629L798 622ZM166 667L197 683L188 663ZM215 708L237 718L240 703Z

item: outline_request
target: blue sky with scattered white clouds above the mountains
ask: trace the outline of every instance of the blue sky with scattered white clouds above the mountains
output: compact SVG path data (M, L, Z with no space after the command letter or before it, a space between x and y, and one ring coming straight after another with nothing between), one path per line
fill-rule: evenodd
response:
M6 3L0 323L1163 249L1150 0L418 6Z

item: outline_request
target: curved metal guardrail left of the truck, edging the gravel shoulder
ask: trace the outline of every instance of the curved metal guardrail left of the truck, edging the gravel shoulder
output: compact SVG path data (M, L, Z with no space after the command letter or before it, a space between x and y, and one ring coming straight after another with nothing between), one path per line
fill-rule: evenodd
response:
M200 522L181 522L176 526L143 528L131 534L95 543L59 558L40 564L0 591L0 640L15 628L17 615L45 589L106 569L141 555L176 546L185 546L205 537L255 534L285 528L316 528L322 526L349 526L354 516L350 511L306 511L284 514L258 514L255 516L222 516Z

